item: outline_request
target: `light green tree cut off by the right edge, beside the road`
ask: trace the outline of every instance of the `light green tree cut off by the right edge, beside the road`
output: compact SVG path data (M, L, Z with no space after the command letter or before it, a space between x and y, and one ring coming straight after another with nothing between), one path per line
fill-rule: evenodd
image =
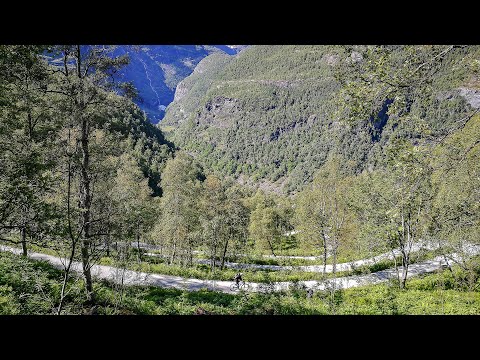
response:
M472 245L480 245L480 116L448 136L433 150L431 234L441 246L461 257L456 262L469 274L468 286L478 278ZM460 282L461 279L458 279Z

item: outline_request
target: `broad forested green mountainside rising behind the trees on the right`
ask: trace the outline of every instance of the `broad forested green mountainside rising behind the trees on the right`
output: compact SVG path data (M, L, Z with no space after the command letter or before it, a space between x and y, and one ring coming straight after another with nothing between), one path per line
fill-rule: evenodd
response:
M236 57L209 55L178 84L159 126L212 172L265 190L295 193L332 153L358 173L385 161L385 149L395 139L416 141L421 126L432 139L445 136L458 119L479 107L474 70L461 65L468 59L477 64L478 47L447 49L438 69L428 63L429 52L437 48L425 47L419 50L426 60L418 71L431 73L430 90L400 84L409 92L399 110L400 99L389 98L388 89L375 92L372 87L367 93L372 99L363 102L371 106L371 114L346 124L340 99L354 80L342 83L339 74L358 78L373 65L379 76L393 70L401 74L412 49L386 49L388 63L378 60L383 48L366 46L256 45ZM372 62L372 56L378 61ZM402 120L406 118L412 120Z

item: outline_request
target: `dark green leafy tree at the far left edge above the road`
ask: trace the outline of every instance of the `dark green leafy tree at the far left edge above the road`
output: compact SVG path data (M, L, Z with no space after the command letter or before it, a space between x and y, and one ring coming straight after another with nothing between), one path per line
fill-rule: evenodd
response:
M51 138L58 123L45 92L51 79L43 50L0 47L0 234L19 231L24 256L28 238L42 240L54 215L47 197L55 165Z

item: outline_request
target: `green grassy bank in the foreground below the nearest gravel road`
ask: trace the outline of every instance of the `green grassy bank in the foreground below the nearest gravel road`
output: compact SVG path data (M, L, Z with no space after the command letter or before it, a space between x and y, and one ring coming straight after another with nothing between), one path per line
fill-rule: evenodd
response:
M457 270L456 275L459 274ZM0 253L0 314L51 313L58 299L60 281L61 273L46 263ZM410 280L405 291L388 284L340 291L335 298L336 313L480 314L480 292L455 284L453 275L444 272ZM215 314L331 313L327 294L319 292L307 299L301 289L288 294L234 296L211 291L128 287L116 310L116 293L111 286L106 282L95 283L95 289L100 314L194 314L198 308ZM85 312L82 282L71 281L70 291L66 312Z

